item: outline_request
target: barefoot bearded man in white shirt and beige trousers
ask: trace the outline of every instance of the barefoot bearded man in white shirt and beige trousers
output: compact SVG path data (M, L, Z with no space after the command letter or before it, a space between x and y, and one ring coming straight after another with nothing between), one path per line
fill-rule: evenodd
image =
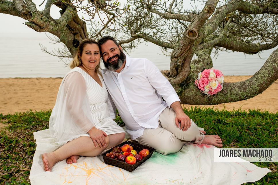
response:
M175 90L152 62L126 56L111 36L101 38L99 46L113 100L108 102L110 116L115 118L116 106L132 140L164 155L188 142L222 147L219 136L205 136L184 113Z

